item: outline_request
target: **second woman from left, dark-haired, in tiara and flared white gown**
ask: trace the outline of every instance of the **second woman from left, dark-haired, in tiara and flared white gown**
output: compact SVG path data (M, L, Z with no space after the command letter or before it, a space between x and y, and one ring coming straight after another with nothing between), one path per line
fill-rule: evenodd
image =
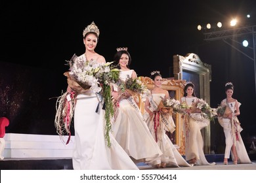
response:
M129 69L131 56L127 48L117 48L114 60L121 69L121 80L125 82L127 78L137 78L133 69ZM136 103L136 99L131 95L120 97L118 95L118 105L116 107L116 118L112 124L112 130L116 141L123 147L125 152L133 158L135 162L146 162L152 166L160 163L161 150L154 141L143 116Z

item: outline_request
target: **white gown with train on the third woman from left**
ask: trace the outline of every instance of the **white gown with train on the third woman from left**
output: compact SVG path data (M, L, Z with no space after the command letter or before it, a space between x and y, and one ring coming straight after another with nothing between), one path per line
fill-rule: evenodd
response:
M156 106L159 105L161 98L165 97L164 93L152 93L152 96L154 98L154 102L156 103ZM150 108L151 111L154 111L152 108ZM156 141L156 136L154 132L154 118L150 118L148 112L144 113L144 119L146 120L146 124L148 125L148 128L150 129L150 133L152 134L152 137L154 137ZM175 123L173 122L173 118L170 115L168 122L171 123L172 129L171 133L175 131ZM173 145L173 142L169 139L169 137L165 133L165 125L163 123L160 124L161 129L158 131L158 141L157 144L160 147L161 152L163 154L161 155L161 162L166 163L168 167L190 167L190 164L186 162L186 160L181 156L177 148Z

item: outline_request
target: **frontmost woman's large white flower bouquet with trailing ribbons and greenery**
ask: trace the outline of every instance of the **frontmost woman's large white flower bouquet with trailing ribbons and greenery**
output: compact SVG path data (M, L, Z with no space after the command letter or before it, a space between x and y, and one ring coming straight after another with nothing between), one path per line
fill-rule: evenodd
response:
M70 140L70 124L74 115L75 94L91 90L96 93L100 102L104 102L105 119L106 119L106 134L108 146L111 145L109 133L111 131L110 118L114 115L114 106L111 100L110 83L116 83L119 79L119 69L116 69L111 64L98 63L91 59L85 61L77 57L75 54L70 61L69 72L64 73L68 77L68 85L72 88L72 92L65 92L56 101L56 116L55 127L59 135L68 133Z

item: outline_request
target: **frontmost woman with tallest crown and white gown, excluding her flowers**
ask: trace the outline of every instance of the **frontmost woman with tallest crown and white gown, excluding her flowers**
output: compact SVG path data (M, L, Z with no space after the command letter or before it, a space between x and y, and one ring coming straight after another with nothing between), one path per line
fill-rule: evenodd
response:
M99 63L106 62L103 56L95 52L98 35L98 27L94 22L85 28L83 31L85 54L76 60L86 62L93 59ZM73 168L75 170L138 169L137 165L116 142L112 133L109 134L111 146L108 146L105 139L104 110L102 110L102 102L96 97L96 94L91 90L83 90L70 77L68 77L67 91L70 94L75 92L75 95L70 95L75 97Z

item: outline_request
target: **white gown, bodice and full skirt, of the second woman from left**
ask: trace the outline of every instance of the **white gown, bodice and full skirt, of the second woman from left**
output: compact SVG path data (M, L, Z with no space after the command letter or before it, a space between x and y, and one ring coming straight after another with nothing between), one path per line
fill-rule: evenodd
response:
M127 75L131 76L132 71L121 71L120 78L125 80ZM144 161L150 165L160 163L162 152L158 144L150 134L140 110L133 107L127 99L119 101L118 114L112 129L116 141L136 162Z

